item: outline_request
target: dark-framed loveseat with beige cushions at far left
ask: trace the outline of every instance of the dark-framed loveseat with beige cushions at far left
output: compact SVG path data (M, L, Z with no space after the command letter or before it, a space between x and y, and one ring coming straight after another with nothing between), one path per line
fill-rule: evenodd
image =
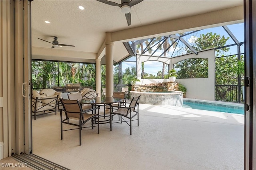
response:
M32 90L32 115L36 120L36 116L55 112L57 114L57 103L61 98L61 92L46 88L39 93Z

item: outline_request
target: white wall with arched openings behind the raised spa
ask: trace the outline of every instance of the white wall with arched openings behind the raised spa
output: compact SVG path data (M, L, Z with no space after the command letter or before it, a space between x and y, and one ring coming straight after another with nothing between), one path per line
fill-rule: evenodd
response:
M166 64L176 64L185 59L192 58L202 58L208 59L208 78L186 78L186 79L176 79L176 82L183 84L187 88L186 97L201 99L201 100L215 100L215 54L214 49L209 49L205 51L198 52L196 54L183 55L174 58L159 58L159 57L148 57L148 56L138 56L137 58L137 68L138 68L138 78L140 79L140 84L150 84L150 83L162 83L163 81L169 81L166 79L141 79L141 62L143 61L161 61ZM143 59L142 59L143 58Z

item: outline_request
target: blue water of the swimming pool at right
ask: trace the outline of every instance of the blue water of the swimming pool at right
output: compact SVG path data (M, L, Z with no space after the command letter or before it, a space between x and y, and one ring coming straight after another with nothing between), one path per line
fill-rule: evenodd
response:
M190 101L190 100L183 100L183 105L184 105L183 107L190 106L192 109L221 111L226 113L238 113L238 114L244 115L244 107L240 107L240 106L213 104L213 103Z

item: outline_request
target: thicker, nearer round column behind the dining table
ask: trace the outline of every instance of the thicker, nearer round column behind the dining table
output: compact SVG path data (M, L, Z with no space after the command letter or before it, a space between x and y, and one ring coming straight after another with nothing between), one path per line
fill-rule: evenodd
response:
M113 60L114 60L114 43L112 42L111 33L106 33L106 97L112 97L114 92Z

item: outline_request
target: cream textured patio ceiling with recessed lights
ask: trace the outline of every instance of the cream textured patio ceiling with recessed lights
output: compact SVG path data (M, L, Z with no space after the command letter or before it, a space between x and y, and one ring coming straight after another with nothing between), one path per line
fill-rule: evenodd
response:
M114 2L120 4L120 0ZM128 26L125 15L121 13L119 7L96 0L34 0L32 1L32 49L40 47L52 51L67 50L97 54L104 44L106 32L121 31L242 5L242 0L144 0L132 6L132 21ZM85 9L80 10L78 6L84 6ZM45 20L50 23L44 23ZM75 47L51 49L50 43L36 38L52 42L53 36L58 37L59 43ZM115 48L115 54L120 56L115 57L121 59L127 56L128 52L120 44L122 45L122 42L119 42L118 48Z

